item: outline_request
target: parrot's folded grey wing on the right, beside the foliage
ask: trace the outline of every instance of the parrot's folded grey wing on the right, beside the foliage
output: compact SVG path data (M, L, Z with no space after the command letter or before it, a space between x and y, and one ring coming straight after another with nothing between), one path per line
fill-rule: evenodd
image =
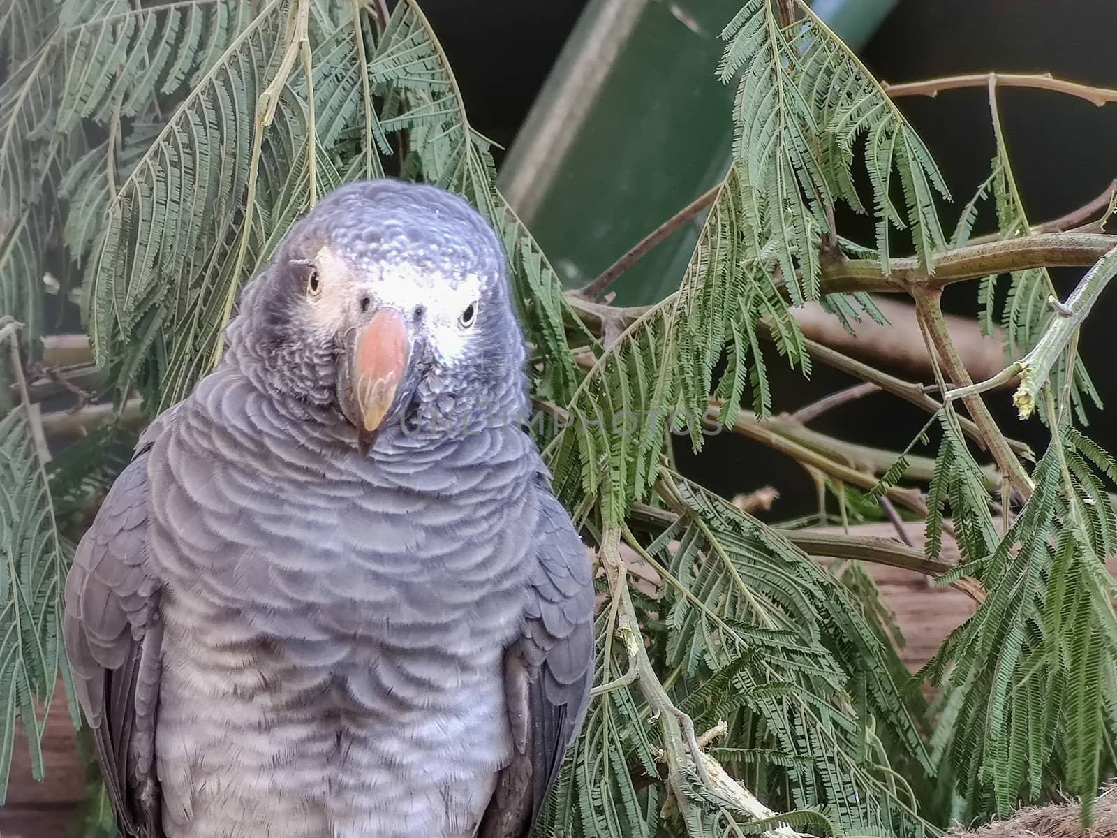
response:
M593 680L593 582L570 516L543 486L523 636L505 655L515 753L500 772L478 832L524 838L558 779Z

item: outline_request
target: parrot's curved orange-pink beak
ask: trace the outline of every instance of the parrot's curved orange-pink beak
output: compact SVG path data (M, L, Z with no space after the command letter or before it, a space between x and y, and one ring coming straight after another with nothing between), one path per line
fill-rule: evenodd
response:
M408 327L394 308L381 308L350 346L351 420L361 436L375 431L392 408L408 368Z

